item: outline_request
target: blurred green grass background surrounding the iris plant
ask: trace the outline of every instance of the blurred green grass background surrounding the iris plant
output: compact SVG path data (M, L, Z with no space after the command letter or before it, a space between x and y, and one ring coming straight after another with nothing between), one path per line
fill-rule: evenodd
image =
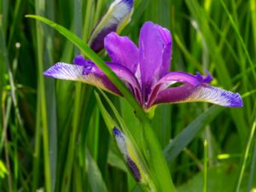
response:
M0 191L140 191L108 135L94 88L42 75L56 61L71 62L79 49L24 17L55 20L86 42L110 3L0 0ZM201 191L203 170L207 191L256 188L255 1L135 0L131 23L122 34L137 43L146 20L172 32L172 71L207 69L215 78L212 84L238 91L244 101L236 109L205 103L156 109L152 125L177 191ZM137 131L127 102L109 97ZM166 147L170 139L185 148Z

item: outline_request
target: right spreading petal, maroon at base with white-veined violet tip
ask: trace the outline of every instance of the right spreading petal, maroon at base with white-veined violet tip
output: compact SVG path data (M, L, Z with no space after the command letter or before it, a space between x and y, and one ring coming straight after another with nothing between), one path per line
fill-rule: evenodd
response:
M211 102L228 108L242 107L241 96L208 84L183 84L160 91L154 104L177 102Z

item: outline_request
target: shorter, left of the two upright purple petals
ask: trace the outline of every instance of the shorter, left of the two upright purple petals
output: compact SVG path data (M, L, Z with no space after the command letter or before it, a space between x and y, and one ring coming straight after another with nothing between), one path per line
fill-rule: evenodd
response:
M120 37L115 32L111 32L104 40L105 49L114 63L131 70L136 73L138 64L138 49L128 37Z

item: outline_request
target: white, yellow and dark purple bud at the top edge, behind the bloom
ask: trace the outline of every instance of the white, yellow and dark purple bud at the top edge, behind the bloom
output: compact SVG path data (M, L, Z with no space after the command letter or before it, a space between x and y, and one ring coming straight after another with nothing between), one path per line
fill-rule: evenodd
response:
M90 36L90 47L96 52L104 48L104 38L110 32L121 32L131 20L133 0L115 0Z

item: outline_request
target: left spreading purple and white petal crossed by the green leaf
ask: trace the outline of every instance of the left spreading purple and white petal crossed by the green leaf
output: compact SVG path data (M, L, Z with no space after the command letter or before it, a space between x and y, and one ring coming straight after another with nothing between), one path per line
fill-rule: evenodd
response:
M102 73L102 70L96 67L93 62L86 61L78 56L74 61L76 64L80 65L58 62L53 67L50 67L46 72L44 72L44 75L55 79L66 79L84 82L101 88L102 90L108 90L115 95L121 96L119 90L111 83L107 76ZM83 63L85 64L82 65ZM119 66L117 64L108 63L108 67L110 67L113 72L116 73L119 79L124 81L125 85L132 91L134 96L137 97L138 102L140 102L140 87L134 75L125 67Z

